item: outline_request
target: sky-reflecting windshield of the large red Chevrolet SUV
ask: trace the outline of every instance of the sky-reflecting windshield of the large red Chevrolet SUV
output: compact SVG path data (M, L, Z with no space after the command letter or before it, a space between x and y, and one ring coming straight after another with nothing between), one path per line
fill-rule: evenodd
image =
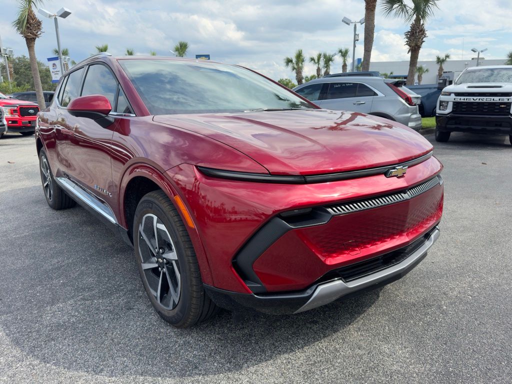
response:
M121 59L119 63L152 115L314 108L237 66L161 59Z

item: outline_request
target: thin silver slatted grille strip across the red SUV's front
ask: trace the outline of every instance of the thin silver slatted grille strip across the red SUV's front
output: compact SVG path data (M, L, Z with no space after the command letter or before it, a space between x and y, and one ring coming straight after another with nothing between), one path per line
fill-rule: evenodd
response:
M440 176L439 176L440 177ZM410 200L422 193L428 191L431 188L434 188L437 184L439 184L439 177L433 177L432 179L425 181L422 184L419 184L413 188L410 188L403 192L398 192L395 194L384 195L376 198L370 198L365 200L359 200L351 203L344 204L336 204L326 207L327 210L334 216L337 215L346 215L353 214L354 212L358 212L361 210L372 209L383 207L385 205L390 205L394 203L399 203L401 201Z

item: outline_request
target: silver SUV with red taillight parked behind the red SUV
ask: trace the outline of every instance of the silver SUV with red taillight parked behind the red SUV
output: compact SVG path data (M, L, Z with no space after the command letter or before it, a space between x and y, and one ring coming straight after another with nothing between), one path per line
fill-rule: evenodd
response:
M394 86L393 82L373 76L323 77L295 87L293 91L325 109L385 117L420 130L419 96L405 87Z

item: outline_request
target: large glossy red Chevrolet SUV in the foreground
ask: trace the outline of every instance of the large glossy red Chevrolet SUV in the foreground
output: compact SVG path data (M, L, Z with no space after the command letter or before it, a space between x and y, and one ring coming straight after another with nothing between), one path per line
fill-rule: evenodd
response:
M133 244L177 327L388 284L439 236L442 165L399 123L181 58L93 56L55 95L36 129L48 204L76 201Z

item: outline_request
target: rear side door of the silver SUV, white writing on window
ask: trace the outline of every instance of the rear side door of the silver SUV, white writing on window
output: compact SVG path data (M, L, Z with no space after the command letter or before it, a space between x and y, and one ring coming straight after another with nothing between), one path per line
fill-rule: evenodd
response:
M341 111L370 113L373 97L377 93L366 84L355 81L330 82L324 100L318 102L322 108Z

